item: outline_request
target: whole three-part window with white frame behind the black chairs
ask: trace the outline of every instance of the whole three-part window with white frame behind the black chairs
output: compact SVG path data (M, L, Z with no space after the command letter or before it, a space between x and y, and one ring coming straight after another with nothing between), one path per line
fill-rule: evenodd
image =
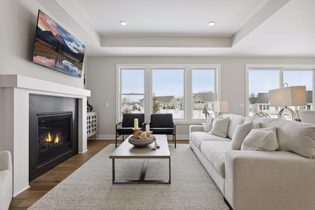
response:
M206 67L205 67L206 66ZM117 120L124 113L171 113L174 121L204 121L220 98L218 64L117 64Z

